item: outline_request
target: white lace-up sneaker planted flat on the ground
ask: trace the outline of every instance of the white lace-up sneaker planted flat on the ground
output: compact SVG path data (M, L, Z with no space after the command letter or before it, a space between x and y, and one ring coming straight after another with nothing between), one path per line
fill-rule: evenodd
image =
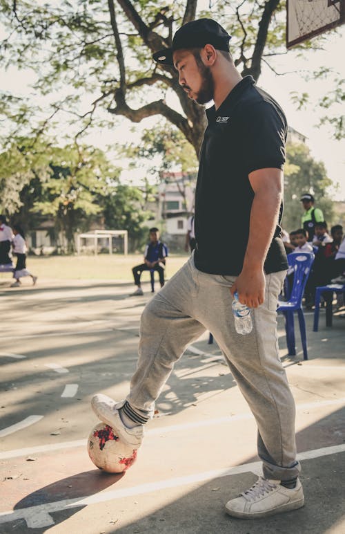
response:
M304 505L302 484L299 479L293 489L285 488L279 480L262 477L237 499L226 503L226 513L233 517L252 519L297 510Z

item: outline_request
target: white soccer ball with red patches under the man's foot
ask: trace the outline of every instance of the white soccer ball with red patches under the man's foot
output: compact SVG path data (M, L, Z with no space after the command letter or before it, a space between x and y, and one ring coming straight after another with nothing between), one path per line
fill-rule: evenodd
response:
M137 449L124 441L116 428L99 423L88 436L88 455L97 468L108 473L121 473L135 462Z

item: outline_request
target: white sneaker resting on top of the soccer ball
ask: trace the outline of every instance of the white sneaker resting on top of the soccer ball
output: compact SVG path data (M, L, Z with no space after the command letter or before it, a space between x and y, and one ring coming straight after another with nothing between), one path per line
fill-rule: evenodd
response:
M124 403L125 401L115 403L112 398L101 393L93 396L91 399L91 407L97 417L103 421L103 423L106 423L112 428L116 428L124 441L139 448L141 441L143 441L144 438L144 425L128 428L122 423L119 408L121 408Z

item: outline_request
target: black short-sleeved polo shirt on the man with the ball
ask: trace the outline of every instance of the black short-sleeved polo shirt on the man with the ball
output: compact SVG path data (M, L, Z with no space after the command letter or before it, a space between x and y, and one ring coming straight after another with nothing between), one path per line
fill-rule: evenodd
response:
M204 273L237 276L243 267L254 198L248 174L268 167L283 169L286 118L251 76L230 91L219 109L206 110L206 116L195 192L195 266ZM282 206L279 224L281 219ZM277 226L264 264L266 273L287 268L280 232Z

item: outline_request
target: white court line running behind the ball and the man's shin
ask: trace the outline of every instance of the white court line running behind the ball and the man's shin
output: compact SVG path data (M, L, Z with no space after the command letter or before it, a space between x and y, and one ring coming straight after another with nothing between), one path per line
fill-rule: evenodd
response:
M316 403L304 403L296 405L297 410L304 409L318 409L322 406L345 405L344 398L335 398L330 401L317 401ZM210 427L212 425L219 425L221 423L232 423L233 421L243 421L245 419L252 419L253 415L250 412L244 414L237 414L233 416L223 416L214 419L203 419L202 421L195 421L194 423L181 423L179 425L170 425L166 427L152 428L146 430L145 436L157 436L157 434L167 434L168 432L177 432L179 430L187 430L190 428ZM16 458L19 456L26 456L27 454L37 454L38 452L50 452L60 449L71 449L75 447L85 447L86 439L77 439L75 441L63 441L61 443L48 443L46 445L36 445L36 447L27 447L23 449L12 449L0 452L0 460Z

